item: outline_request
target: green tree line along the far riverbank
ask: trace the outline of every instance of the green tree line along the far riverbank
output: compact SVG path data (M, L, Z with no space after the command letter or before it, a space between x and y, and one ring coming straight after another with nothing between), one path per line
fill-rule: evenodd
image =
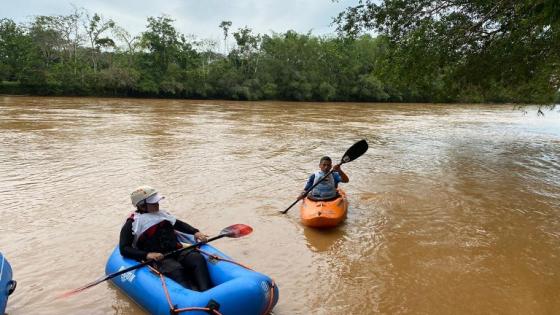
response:
M232 31L231 21L223 21L216 27L223 31L224 51L216 42L181 34L165 15L148 17L139 35L83 9L19 25L3 18L0 93L539 104L558 97L560 49L545 49L558 45L556 28L548 42L520 40L517 48L502 43L477 52L457 34L449 33L451 42L444 45L445 34L428 32L425 21L410 22L420 30L392 29L398 21L388 22L391 14L398 17L398 10L410 8L378 9L388 31L373 37L364 31L375 21L358 9L341 13L340 32L332 36L255 34L248 27ZM235 44L227 47L230 37ZM539 52L546 62L538 59Z

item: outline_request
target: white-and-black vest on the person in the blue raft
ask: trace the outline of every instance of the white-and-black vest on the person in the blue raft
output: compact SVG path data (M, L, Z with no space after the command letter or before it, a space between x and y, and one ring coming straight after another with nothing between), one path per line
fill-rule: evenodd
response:
M131 215L133 247L148 252L169 252L179 248L173 225L177 219L166 211L138 213Z

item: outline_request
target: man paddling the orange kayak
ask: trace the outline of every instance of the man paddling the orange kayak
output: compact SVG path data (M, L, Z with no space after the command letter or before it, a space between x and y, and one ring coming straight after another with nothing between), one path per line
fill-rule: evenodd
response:
M323 177L325 177L325 175L329 173L331 167L333 169L333 172L330 173L327 178L317 184L317 182L319 182L321 179L323 179ZM350 179L348 178L348 175L346 175L346 173L344 173L340 168L340 164L332 166L331 158L328 156L323 156L319 161L319 171L309 176L305 188L298 196L298 200L305 198L306 195L309 199L312 200L334 199L338 196L338 192L336 190L338 187L338 183L348 183L349 180ZM311 187L313 187L313 185L315 184L317 184L317 186L315 186L313 190L309 191L309 189L311 189ZM307 193L308 191L309 193Z

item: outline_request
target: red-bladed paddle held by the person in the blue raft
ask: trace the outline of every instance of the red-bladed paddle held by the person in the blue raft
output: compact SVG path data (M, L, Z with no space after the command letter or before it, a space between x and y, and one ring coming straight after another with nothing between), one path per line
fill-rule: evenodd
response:
M243 237L243 236L245 236L245 235L249 235L249 234L251 234L251 232L253 232L253 228L250 227L250 226L248 226L248 225L245 225L245 224L234 224L234 225L231 225L231 226L228 226L228 227L224 228L222 231L220 231L220 234L219 234L219 235L209 238L206 242L198 242L198 243L194 243L194 244L192 244L192 245L190 245L190 246L187 246L187 247L183 247L183 248L179 248L179 249L173 250L173 251L171 251L171 252L169 252L169 253L165 253L165 254L163 255L163 257L165 258L165 257L171 256L171 255L177 254L177 253L179 253L179 252L182 252L182 251L184 251L184 250L193 249L193 248L195 248L195 247L198 247L198 246L200 246L200 245L206 244L206 243L208 243L208 242L212 242L212 241L217 240L217 239L222 238L222 237L238 238L238 237ZM105 280L109 280L109 279L112 279L112 278L114 278L114 277L116 277L116 276L122 275L123 273L127 273L127 272L129 272L129 271L134 270L134 269L141 268L141 267L146 266L146 265L148 265L148 264L150 264L150 263L152 263L152 262L154 262L153 259L148 259L148 260L146 260L146 261L144 261L144 262L142 262L142 263L139 263L139 264L137 264L137 265L130 266L130 267L126 268L126 269L123 269L123 270L114 272L114 273L112 273L112 274L108 274L108 275L106 275L106 276L104 276L104 277L101 277L101 278L99 278L99 279L97 279L97 280L95 280L95 281L93 281L93 282L91 282L91 283L88 283L88 284L86 284L86 285L84 285L84 286L82 286L82 287L79 287L79 288L77 288L77 289L74 289L74 290L65 292L65 293L63 293L62 295L60 295L60 297L69 297L69 296L72 296L72 295L74 295L74 294L77 294L77 293L79 293L79 292L84 291L85 289L88 289L88 288L91 288L91 287L93 287L93 286L95 286L95 285L98 285L98 284L100 284L101 282L103 282L103 281L105 281Z

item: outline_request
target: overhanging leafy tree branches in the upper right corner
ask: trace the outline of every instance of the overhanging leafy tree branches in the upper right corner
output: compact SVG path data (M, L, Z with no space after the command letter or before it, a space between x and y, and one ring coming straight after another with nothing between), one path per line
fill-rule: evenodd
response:
M415 97L549 102L560 88L558 0L359 0L336 21L386 37L382 78Z

